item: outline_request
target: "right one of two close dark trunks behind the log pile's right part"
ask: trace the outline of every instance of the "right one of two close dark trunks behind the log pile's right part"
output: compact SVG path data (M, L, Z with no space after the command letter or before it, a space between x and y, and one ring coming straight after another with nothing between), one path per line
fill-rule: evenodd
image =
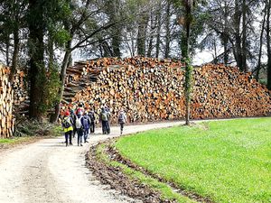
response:
M243 71L248 72L248 67L247 67L247 4L246 4L246 0L243 0L242 14L243 14L242 66L243 66Z

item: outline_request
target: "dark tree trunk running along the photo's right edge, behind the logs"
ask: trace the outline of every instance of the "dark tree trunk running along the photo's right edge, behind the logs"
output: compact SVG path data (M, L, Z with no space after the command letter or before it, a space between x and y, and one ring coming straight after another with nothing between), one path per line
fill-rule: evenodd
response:
M270 10L271 0L266 0L267 18L266 18L266 46L267 46L267 88L271 89L271 44L270 44Z

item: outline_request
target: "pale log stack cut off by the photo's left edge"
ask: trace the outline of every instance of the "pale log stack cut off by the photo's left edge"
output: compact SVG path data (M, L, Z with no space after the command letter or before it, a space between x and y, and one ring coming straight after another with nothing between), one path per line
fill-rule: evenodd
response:
M14 132L14 91L8 80L10 69L0 65L0 138L12 136Z

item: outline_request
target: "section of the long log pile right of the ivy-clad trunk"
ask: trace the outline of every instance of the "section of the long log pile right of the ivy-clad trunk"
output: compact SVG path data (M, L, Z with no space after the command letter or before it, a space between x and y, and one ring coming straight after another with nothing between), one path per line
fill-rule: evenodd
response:
M269 115L271 92L251 73L224 65L206 65L195 71L193 118L229 118Z

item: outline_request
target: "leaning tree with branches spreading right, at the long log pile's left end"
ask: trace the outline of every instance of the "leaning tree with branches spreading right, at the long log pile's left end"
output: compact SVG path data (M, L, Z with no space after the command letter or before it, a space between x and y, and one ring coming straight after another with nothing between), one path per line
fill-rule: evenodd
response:
M77 4L71 0L67 0L67 2L68 10L70 9L70 15L63 18L62 23L64 25L64 30L69 34L69 37L65 42L64 58L61 62L61 86L58 91L60 100L55 105L55 112L51 117L51 122L56 122L60 114L66 69L68 68L71 52L98 42L95 40L95 36L119 23L104 22L104 24L98 25L98 23L95 22L95 17L101 14L101 9L98 5L92 5L91 1L82 1ZM95 7L95 9L91 10L90 8L93 7Z

